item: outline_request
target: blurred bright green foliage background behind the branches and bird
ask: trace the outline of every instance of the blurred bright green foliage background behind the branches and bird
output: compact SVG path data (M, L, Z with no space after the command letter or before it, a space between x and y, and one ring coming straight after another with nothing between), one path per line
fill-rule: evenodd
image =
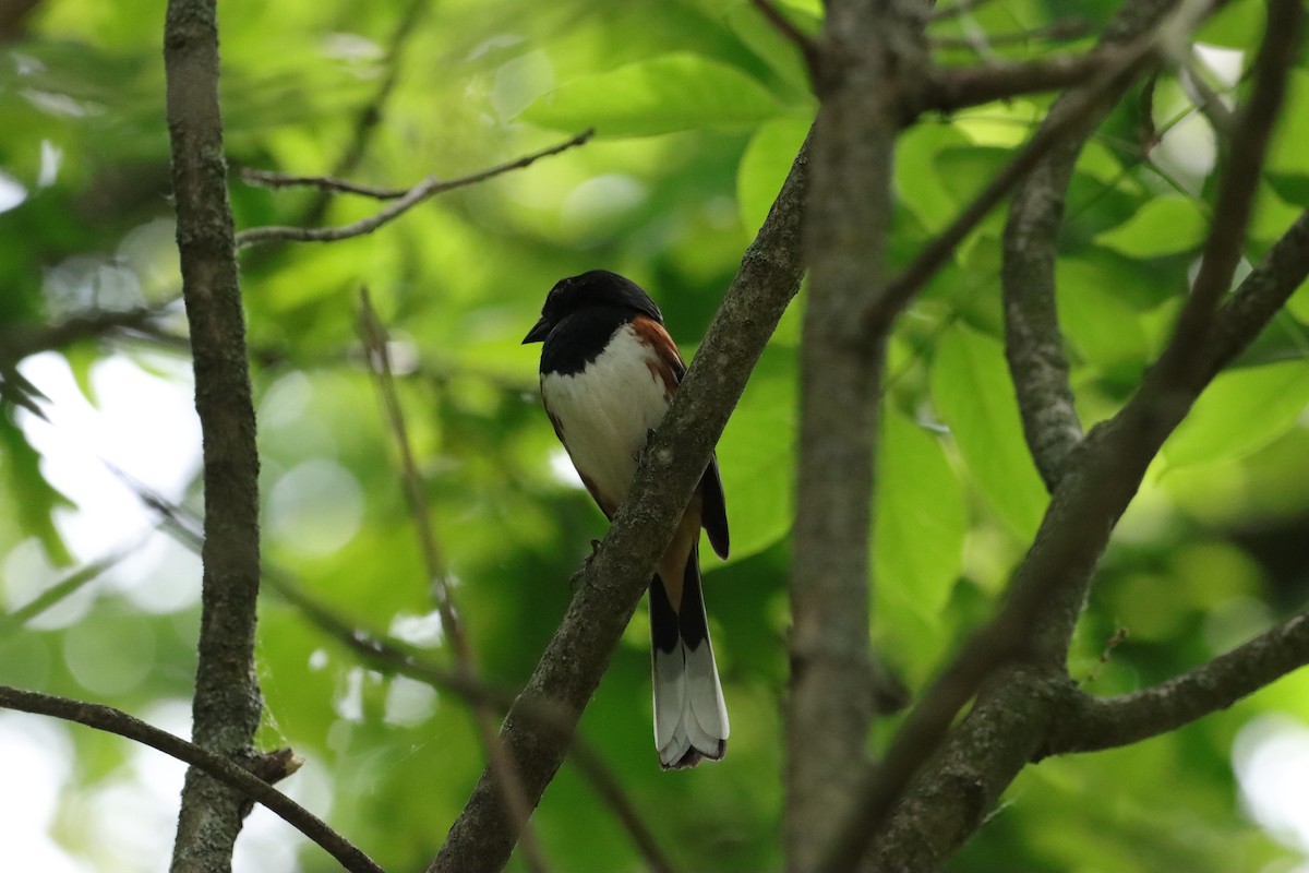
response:
M164 3L8 5L21 9L0 16L0 682L111 703L186 733L199 564L156 530L139 496L200 505L177 340ZM783 5L819 26L818 0ZM1084 26L1055 39L1042 29L1067 25L1068 4L992 0L935 24L936 55L974 63L1085 48L1115 4L1077 7ZM238 228L343 224L377 209L251 187L241 168L403 187L597 131L373 234L242 254L268 565L353 624L448 660L359 355L367 285L393 331L401 399L480 669L516 686L603 530L539 410L537 349L518 340L554 281L606 267L653 293L690 356L812 120L804 68L747 0L381 0L367 12L343 0L224 0L220 16ZM1227 4L1198 35L1192 75L1242 94L1262 26L1257 0ZM996 39L1024 31L1035 35ZM1302 63L1261 183L1250 259L1309 195ZM1194 93L1172 73L1138 89L1079 164L1059 304L1088 423L1118 408L1158 351L1204 238L1223 144ZM967 202L1049 102L924 118L903 135L898 259ZM1046 503L1004 368L1001 226L997 213L970 236L890 349L873 633L914 688L988 614ZM658 771L641 615L583 721L685 869L780 866L801 305L719 448L733 555L706 559L706 584L732 754ZM143 308L148 325L131 317ZM77 321L89 313L101 322ZM1071 669L1088 688L1161 681L1302 607L1306 325L1301 291L1156 462L1077 633ZM262 739L309 760L287 789L387 869L420 869L483 766L467 708L361 662L271 590L259 640ZM164 868L179 766L30 716L0 713L0 828L21 834L13 851L39 861L24 869ZM1285 870L1309 864L1305 810L1301 673L1174 734L1029 768L952 869ZM567 764L534 821L559 869L641 866ZM334 869L262 810L242 840L247 870Z

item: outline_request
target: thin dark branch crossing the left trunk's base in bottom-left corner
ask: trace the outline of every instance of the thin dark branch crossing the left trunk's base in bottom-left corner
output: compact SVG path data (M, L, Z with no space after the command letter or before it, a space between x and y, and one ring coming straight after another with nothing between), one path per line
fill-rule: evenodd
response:
M370 857L355 844L334 831L321 818L291 800L270 783L284 779L300 768L300 759L289 750L279 750L267 755L247 759L247 767L241 767L230 759L217 755L166 730L160 730L140 719L134 719L120 709L97 703L69 700L35 691L24 691L0 686L0 707L52 716L65 721L126 737L141 745L162 751L165 755L203 771L224 785L241 792L276 813L283 821L321 846L352 873L382 873ZM258 771L259 775L251 772Z

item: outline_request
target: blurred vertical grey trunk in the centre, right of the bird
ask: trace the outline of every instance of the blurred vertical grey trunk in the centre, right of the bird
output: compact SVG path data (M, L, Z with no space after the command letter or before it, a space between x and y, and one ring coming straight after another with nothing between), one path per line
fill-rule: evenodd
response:
M827 7L822 105L805 217L809 300L800 348L800 446L785 702L787 868L813 869L867 757L877 671L869 647L873 458L885 330L857 313L885 281L891 156L927 67L918 4Z

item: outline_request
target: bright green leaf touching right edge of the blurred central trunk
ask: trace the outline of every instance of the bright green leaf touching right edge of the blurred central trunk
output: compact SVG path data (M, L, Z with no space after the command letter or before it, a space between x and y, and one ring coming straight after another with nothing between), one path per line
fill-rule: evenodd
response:
M873 522L873 615L891 628L932 623L963 559L963 484L940 440L895 410L882 418ZM908 613L908 615L906 615Z

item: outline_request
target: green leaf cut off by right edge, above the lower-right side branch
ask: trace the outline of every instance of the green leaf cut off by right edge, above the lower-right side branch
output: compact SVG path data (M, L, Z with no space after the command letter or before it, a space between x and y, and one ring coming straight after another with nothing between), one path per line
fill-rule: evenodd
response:
M1309 406L1309 361L1223 373L1164 444L1172 467L1258 452L1295 427Z

